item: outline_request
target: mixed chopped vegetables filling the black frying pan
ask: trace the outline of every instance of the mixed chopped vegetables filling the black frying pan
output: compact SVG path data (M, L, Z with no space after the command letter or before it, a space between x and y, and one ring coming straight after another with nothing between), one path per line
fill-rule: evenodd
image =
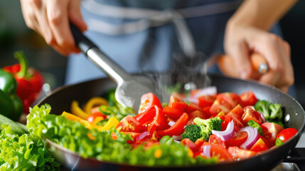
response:
M113 91L107 100L95 97L85 105L73 101L71 113L62 115L50 114L47 104L35 106L27 128L82 157L149 166L245 159L281 145L297 133L266 122L264 114L255 110L262 102L253 92L205 92L196 90L188 97L173 93L165 106L154 94L144 94L137 115L122 108Z

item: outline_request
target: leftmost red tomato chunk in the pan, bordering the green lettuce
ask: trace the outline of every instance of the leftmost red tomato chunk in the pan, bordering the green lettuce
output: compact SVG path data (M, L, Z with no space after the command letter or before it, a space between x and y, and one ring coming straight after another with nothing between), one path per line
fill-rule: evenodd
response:
M142 132L145 128L134 117L127 115L117 125L117 128L122 128L124 132Z

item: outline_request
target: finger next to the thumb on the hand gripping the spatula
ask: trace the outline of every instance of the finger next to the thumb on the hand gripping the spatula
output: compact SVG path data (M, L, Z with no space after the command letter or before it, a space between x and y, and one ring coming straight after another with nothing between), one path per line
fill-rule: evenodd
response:
M68 1L47 1L47 6L48 24L55 36L58 48L71 53L75 45L68 22Z

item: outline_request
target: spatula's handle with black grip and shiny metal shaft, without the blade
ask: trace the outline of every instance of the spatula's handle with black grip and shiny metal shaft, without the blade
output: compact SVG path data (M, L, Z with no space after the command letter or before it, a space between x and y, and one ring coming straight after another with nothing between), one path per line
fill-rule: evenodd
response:
M130 75L121 66L92 43L74 24L70 22L70 29L75 39L75 44L87 58L107 74L118 85L128 80Z

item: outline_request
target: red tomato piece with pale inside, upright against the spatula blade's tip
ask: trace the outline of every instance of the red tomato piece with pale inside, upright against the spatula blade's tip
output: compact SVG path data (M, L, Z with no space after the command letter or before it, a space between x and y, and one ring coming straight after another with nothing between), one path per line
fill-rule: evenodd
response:
M157 105L159 108L162 108L160 100L153 93L142 95L138 113L144 113L152 105Z

